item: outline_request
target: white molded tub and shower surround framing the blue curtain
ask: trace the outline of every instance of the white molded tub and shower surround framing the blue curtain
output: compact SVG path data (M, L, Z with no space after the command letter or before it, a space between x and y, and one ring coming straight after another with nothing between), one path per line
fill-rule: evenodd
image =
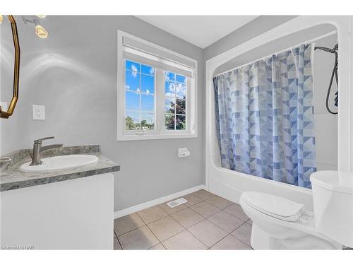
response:
M223 196L230 201L239 202L239 196L245 191L258 191L282 196L292 201L305 204L309 211L313 211L313 199L311 189L297 187L291 184L263 179L220 166L219 150L215 137L215 110L213 75L217 67L225 64L230 59L239 57L241 54L256 49L261 45L285 37L292 33L311 28L315 25L330 24L337 28L340 53L338 60L344 64L339 69L340 79L340 105L338 105L338 150L337 165L328 165L325 159L318 161L318 169L337 167L340 171L353 172L353 103L352 93L352 54L353 37L350 28L352 20L348 16L298 16L286 23L277 26L267 32L253 37L232 49L222 52L215 57L206 60L205 64L205 186L215 194Z

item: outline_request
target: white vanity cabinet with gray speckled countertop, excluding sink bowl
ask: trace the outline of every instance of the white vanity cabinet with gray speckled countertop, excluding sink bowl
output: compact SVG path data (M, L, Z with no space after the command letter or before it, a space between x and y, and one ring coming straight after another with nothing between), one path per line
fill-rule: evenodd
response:
M95 155L79 167L23 172L28 150L6 155L1 171L2 249L113 249L114 179L119 165L105 158L99 146L59 148L43 158Z

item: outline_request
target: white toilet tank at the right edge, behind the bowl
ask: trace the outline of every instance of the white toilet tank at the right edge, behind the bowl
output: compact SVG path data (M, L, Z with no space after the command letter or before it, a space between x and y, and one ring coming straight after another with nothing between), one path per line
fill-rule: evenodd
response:
M311 174L316 230L353 247L353 174L318 171Z

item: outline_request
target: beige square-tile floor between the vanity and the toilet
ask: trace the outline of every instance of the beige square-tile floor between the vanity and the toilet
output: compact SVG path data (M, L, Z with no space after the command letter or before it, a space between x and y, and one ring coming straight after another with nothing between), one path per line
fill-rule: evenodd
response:
M114 249L251 249L251 220L239 204L201 189L188 202L152 206L114 220Z

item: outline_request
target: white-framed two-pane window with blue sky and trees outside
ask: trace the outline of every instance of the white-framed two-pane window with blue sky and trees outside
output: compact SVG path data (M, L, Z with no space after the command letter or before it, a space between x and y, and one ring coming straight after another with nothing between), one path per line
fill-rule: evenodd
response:
M197 61L118 31L118 141L196 137Z

